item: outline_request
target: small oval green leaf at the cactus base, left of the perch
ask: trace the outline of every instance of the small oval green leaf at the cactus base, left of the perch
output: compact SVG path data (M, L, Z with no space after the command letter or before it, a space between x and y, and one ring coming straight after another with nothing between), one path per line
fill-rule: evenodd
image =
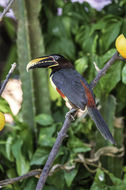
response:
M40 114L35 117L35 121L39 123L40 125L47 126L53 123L53 118L51 115Z

